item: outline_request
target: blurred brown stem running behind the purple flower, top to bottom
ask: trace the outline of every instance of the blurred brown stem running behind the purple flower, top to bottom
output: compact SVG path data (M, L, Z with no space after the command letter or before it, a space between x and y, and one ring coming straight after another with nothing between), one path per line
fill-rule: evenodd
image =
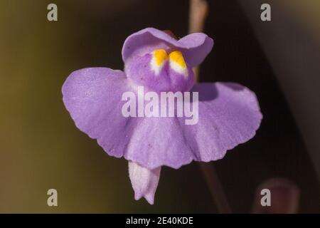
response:
M208 2L206 0L190 0L189 33L202 32L208 15ZM199 81L199 66L193 68L195 80ZM203 177L210 190L211 196L220 213L231 213L228 199L212 163L199 162Z

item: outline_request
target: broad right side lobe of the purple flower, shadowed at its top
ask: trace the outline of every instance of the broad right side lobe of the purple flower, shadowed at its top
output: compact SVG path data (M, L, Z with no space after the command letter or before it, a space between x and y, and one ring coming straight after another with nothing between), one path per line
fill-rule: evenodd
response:
M199 119L183 125L183 133L194 160L221 159L253 138L262 120L255 93L236 83L199 83L191 91L199 94Z

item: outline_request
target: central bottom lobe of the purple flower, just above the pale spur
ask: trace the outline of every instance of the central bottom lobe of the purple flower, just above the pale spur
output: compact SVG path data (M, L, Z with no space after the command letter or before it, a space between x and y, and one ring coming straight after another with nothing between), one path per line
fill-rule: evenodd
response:
M190 163L193 152L178 118L140 118L124 157L148 169L162 165L178 169Z

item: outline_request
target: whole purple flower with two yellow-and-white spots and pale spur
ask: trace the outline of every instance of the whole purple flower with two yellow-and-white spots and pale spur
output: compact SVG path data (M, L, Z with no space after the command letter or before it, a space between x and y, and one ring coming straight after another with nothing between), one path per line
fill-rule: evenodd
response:
M235 83L193 83L192 68L212 48L213 39L204 33L177 41L163 31L145 28L124 41L124 72L85 68L65 81L63 102L75 125L97 139L108 155L129 161L135 199L145 197L154 203L161 166L178 169L193 160L221 159L259 128L262 114L255 93ZM153 94L190 91L194 98L197 94L198 102L190 101L198 108L196 124L186 124L186 116L139 115L136 106L130 111L137 110L138 115L124 116L124 94L139 99L141 86Z

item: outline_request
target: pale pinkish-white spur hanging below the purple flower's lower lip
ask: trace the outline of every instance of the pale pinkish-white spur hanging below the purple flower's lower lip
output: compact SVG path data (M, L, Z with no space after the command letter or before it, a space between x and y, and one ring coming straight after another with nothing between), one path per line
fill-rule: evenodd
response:
M161 167L149 170L130 161L128 165L129 177L134 189L134 199L139 200L144 197L149 204L154 204L154 194L158 187Z

